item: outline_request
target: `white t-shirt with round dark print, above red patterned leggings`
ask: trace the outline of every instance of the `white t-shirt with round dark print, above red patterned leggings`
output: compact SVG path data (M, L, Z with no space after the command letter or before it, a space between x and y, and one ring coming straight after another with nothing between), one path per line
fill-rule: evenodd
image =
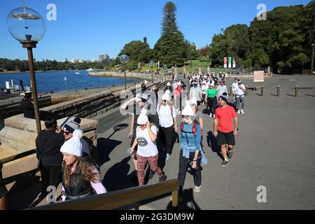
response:
M155 125L151 126L151 130L154 134L158 134L158 129ZM158 147L156 142L151 141L150 134L148 129L141 130L140 127L137 127L137 142L138 150L137 153L143 157L155 156L158 154Z

